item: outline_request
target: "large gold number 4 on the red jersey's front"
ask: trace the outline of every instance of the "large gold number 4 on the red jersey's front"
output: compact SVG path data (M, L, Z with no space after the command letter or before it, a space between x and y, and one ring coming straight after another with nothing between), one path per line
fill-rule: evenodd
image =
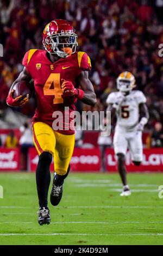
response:
M54 89L51 89L52 83L54 84ZM62 99L62 89L60 87L60 74L51 74L49 75L45 86L43 87L44 95L54 95L53 103L59 104L64 103Z

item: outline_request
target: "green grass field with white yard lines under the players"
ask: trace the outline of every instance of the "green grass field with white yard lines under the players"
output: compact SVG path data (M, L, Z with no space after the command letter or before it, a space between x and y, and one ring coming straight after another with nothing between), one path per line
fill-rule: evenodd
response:
M35 174L0 173L0 245L162 245L163 174L128 174L130 197L120 197L118 174L70 173L51 224L37 223Z

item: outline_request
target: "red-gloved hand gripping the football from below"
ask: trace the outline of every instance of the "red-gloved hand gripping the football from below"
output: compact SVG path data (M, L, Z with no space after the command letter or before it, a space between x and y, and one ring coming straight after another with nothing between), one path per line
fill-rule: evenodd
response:
M11 106L11 107L18 107L18 106L22 106L26 103L28 103L29 99L27 97L24 97L22 95L14 98L13 95L14 95L14 92L15 90L13 89L11 91L11 93L8 95L7 97L7 105Z

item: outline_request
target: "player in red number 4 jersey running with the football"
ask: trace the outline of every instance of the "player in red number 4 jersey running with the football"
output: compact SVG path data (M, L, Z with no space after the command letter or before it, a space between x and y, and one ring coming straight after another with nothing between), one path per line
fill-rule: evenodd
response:
M91 69L89 56L85 52L76 52L77 34L66 20L53 20L43 31L45 50L29 50L24 58L24 69L12 84L7 98L9 106L21 106L28 99L14 99L13 87L20 81L34 80L37 108L32 119L33 139L39 154L36 168L36 185L39 198L39 224L51 221L48 209L48 189L51 181L49 166L54 157L54 179L51 191L52 205L58 205L62 197L62 185L70 171L70 160L74 148L74 130L53 129L53 113L69 114L75 109L77 99L87 105L95 105L96 94L89 80ZM79 89L80 86L80 89ZM69 119L69 123L73 117Z

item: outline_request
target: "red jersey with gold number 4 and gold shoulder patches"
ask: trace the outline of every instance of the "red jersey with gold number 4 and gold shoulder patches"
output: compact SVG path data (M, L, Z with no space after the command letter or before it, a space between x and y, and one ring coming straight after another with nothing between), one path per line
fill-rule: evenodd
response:
M72 112L75 110L74 103L77 98L74 96L62 97L61 80L71 81L74 87L77 88L76 78L82 71L91 69L89 56L85 52L76 52L70 57L60 58L52 63L47 58L46 51L32 49L24 55L22 63L34 80L37 108L32 123L41 121L52 126L56 119L54 117L55 113L60 111L64 116L65 107L69 107L66 115L68 114L68 117L70 117L71 114L71 117L66 118L68 123L63 119L63 129L59 129L58 132L67 135L73 134L74 130L67 127L70 123L72 124Z

